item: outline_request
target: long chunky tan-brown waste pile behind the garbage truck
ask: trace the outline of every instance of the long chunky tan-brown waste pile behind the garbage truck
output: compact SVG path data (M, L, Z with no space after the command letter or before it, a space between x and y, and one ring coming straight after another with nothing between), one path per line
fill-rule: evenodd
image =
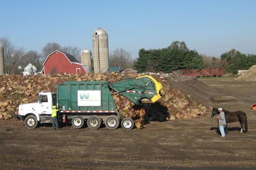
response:
M129 74L139 77L141 74ZM10 119L17 114L20 104L36 102L38 92L56 91L56 85L65 81L108 81L116 82L127 77L121 74L54 74L41 76L0 76L0 119ZM113 95L116 107L122 117L134 119L137 128L148 121L191 119L204 116L207 108L194 102L189 94L173 87L171 82L179 82L177 77L154 76L163 85L165 96L155 103L134 105L120 94ZM199 81L198 81L199 82Z

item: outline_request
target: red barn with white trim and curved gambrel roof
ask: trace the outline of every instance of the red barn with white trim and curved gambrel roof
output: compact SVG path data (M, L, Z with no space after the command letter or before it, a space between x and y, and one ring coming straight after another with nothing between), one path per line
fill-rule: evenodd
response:
M49 54L43 64L44 74L83 74L88 73L89 69L87 65L79 63L73 55L54 51Z

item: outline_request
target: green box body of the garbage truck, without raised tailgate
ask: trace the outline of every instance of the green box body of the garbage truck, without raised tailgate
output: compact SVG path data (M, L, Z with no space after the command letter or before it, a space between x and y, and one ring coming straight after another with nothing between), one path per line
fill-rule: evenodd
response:
M57 85L57 106L62 108L63 113L71 111L73 114L87 116L91 113L100 116L111 114L120 118L108 82L103 81L65 82Z

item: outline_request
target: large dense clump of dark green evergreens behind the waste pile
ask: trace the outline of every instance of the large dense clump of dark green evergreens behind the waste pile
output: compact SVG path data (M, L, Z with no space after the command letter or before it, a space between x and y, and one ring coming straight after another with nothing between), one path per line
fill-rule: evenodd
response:
M184 68L201 69L204 63L202 55L195 50L189 50L185 42L174 41L167 48L140 49L134 67L139 72L171 73L173 70Z

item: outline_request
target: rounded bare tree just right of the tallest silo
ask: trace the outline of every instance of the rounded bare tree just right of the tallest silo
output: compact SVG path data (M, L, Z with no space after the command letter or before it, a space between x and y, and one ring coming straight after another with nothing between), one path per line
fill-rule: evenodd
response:
M131 53L125 51L123 48L116 48L116 50L110 54L109 65L111 67L119 66L121 69L131 68L133 65Z

